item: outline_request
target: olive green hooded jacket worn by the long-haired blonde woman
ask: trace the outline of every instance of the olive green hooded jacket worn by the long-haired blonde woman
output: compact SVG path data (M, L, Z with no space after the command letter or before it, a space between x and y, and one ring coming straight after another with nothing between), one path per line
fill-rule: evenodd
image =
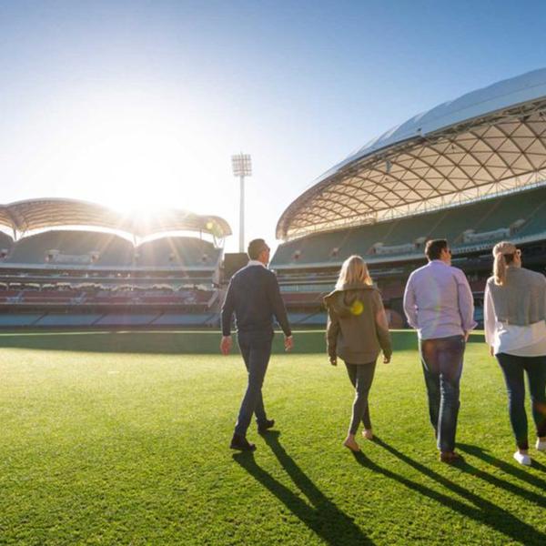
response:
M346 285L324 298L328 308L329 358L349 364L375 362L392 354L389 323L379 290L364 283Z

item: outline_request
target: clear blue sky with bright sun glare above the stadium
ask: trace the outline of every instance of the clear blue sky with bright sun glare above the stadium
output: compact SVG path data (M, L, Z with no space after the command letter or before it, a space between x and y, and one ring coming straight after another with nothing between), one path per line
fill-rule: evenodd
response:
M440 102L546 65L546 4L0 0L7 203L73 197L225 217L247 236L316 177Z

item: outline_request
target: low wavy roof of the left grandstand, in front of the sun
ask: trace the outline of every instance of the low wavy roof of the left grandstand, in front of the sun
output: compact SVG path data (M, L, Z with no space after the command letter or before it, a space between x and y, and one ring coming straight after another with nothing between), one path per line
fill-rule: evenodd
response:
M146 215L124 215L111 208L76 199L29 199L0 205L0 227L14 233L52 227L100 227L145 238L167 231L202 231L217 238L231 235L227 221L167 209Z

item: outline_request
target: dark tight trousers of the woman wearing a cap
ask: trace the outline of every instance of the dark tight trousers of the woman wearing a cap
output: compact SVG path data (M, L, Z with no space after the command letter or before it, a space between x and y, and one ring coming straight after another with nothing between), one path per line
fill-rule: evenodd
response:
M527 373L537 436L546 436L546 357L516 357L506 353L500 353L496 357L508 390L508 410L516 444L521 450L528 450L523 372Z

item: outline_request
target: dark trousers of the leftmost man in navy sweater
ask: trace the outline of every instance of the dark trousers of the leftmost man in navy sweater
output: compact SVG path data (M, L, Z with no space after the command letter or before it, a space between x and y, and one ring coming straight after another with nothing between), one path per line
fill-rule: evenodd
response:
M241 436L247 434L253 413L256 414L258 425L267 419L261 389L268 370L272 341L272 332L238 333L239 349L248 371L247 390L241 401L235 426L235 433Z

